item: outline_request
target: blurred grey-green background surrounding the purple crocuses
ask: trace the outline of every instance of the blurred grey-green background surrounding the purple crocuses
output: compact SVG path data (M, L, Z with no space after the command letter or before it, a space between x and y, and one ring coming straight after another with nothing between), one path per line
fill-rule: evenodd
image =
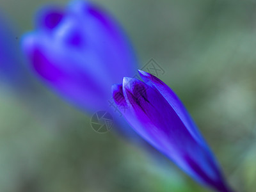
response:
M1 0L19 29L36 10L68 1ZM236 191L256 190L256 3L244 0L98 0L122 23L141 67L154 58ZM35 79L35 97L0 83L0 191L207 191ZM32 93L31 93L32 94ZM28 99L29 98L29 99Z

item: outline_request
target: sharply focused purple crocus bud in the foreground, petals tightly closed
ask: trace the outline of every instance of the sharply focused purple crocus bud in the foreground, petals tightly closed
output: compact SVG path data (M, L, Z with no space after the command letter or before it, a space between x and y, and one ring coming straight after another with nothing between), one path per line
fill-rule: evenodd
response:
M204 138L177 95L157 77L139 70L144 82L124 77L113 99L133 129L201 184L231 191Z

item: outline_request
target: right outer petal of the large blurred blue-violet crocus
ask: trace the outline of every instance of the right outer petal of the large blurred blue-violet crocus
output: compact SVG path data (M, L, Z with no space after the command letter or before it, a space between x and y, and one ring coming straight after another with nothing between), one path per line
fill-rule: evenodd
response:
M124 76L135 74L136 55L127 35L112 15L90 2L79 0L70 3L69 12L76 15L79 24L86 26L83 33L88 36L87 43L97 49L99 59L108 66L107 70L115 80L112 84L122 81Z

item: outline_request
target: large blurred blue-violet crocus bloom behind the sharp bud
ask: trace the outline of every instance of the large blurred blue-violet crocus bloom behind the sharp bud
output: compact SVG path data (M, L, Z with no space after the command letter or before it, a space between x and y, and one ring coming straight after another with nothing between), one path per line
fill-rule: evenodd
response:
M45 83L91 113L109 108L111 85L132 76L137 65L116 21L84 1L42 9L22 48Z

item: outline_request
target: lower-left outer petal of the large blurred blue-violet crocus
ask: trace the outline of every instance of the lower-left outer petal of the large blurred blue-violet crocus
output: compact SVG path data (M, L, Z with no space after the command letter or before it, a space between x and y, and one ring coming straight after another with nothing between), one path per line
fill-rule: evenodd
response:
M107 108L108 104L102 100L102 97L108 96L104 88L99 86L101 84L93 81L93 74L86 72L83 68L72 68L74 60L65 57L63 52L56 51L52 55L51 52L45 50L44 41L48 40L38 41L36 34L30 34L23 40L23 49L30 58L35 71L47 84L80 108L86 107L92 112L95 109Z

